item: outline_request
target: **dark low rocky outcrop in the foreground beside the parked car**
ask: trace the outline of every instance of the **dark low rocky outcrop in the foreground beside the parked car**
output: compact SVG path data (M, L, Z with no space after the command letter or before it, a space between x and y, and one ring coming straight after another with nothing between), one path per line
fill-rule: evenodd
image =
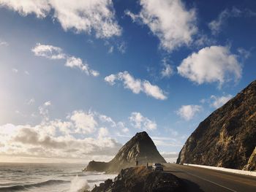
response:
M91 192L184 191L181 180L167 172L152 172L146 166L122 169L114 181L95 186Z

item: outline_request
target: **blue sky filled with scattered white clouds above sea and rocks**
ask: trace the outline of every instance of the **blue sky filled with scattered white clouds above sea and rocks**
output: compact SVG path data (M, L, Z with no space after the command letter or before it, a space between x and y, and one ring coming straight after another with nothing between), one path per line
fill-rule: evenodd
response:
M0 0L0 161L167 161L256 74L256 1Z

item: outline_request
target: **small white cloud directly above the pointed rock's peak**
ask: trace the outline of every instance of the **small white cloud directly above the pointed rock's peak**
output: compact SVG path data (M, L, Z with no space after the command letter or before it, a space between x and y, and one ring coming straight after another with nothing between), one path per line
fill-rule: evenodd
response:
M149 120L140 112L132 112L131 116L129 117L132 126L135 128L143 129L143 130L154 130L157 128L157 123L154 120Z

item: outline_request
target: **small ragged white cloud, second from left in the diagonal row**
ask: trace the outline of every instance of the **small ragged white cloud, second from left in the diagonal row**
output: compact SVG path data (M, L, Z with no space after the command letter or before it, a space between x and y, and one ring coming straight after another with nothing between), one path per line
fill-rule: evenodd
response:
M85 72L87 75L91 74L94 77L99 76L99 72L89 69L89 64L84 64L82 59L76 58L74 56L68 57L65 66L71 68L78 68L81 71Z

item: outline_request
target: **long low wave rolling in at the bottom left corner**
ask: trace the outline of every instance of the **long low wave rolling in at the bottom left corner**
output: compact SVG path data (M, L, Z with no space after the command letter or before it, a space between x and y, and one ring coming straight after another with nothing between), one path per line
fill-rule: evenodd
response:
M34 187L42 187L45 185L55 185L55 184L61 184L61 183L70 183L70 181L67 180L47 180L43 181L40 183L33 183L33 184L26 184L26 185L12 185L10 187L0 187L0 191L20 191L20 190L26 190L29 188L34 188Z

